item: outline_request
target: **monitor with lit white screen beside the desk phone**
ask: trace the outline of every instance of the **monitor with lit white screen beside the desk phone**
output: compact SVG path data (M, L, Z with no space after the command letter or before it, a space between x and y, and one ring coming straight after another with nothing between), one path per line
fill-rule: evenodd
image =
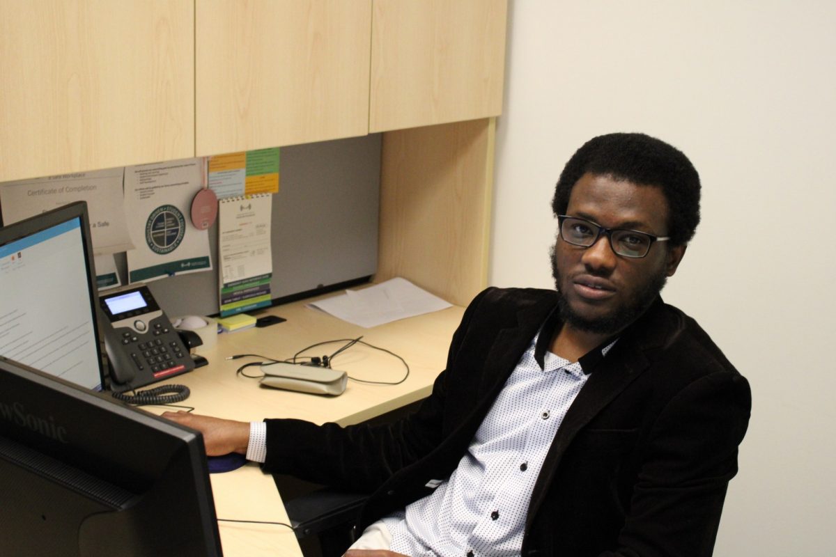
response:
M0 228L0 356L100 390L87 205Z

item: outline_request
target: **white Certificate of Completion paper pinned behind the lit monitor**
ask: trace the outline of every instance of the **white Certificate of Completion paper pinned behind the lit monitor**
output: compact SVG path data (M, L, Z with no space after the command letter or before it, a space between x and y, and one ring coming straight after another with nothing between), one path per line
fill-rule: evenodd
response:
M87 201L94 254L103 256L130 250L134 246L125 225L124 171L119 167L7 182L0 188L3 223L8 225L40 215L73 201Z

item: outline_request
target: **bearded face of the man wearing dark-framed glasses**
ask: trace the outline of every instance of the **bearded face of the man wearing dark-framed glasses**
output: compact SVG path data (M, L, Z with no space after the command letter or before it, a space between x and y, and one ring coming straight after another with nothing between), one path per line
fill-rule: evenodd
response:
M668 204L660 188L585 174L574 185L566 214L605 228L668 235ZM559 234L559 232L558 232ZM558 238L552 255L563 321L582 331L615 334L634 322L665 286L685 246L654 242L647 256L630 259L612 251L607 235L588 248Z

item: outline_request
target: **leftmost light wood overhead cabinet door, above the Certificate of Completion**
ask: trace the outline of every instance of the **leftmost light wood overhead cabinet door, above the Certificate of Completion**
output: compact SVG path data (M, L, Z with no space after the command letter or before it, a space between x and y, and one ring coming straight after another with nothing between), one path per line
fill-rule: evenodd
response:
M192 0L0 0L0 181L194 156Z

